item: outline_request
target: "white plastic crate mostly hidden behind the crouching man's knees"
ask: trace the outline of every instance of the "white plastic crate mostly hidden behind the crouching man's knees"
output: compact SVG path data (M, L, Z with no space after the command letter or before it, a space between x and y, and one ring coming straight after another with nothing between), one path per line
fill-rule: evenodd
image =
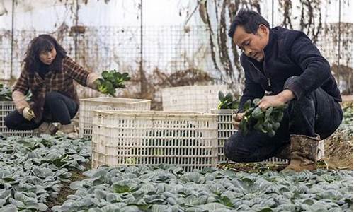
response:
M212 110L213 114L217 114L217 146L218 146L218 158L219 163L232 163L230 160L225 158L224 155L224 143L229 139L232 134L236 133L234 125L232 124L232 115L237 113L237 110ZM287 163L287 160L280 158L269 158L264 160L265 163Z

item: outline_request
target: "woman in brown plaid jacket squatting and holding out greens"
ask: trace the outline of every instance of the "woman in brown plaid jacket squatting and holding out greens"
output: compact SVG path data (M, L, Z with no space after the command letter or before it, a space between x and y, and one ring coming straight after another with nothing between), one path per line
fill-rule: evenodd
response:
M31 42L23 60L23 71L16 82L12 98L16 110L5 117L9 129L38 129L42 134L72 130L71 119L79 109L79 97L74 80L82 86L96 89L96 73L89 73L72 59L50 35L39 35ZM28 90L31 102L25 100Z

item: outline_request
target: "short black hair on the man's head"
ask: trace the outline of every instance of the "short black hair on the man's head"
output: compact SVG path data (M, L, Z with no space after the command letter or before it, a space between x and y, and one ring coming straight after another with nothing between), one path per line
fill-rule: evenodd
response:
M234 17L234 20L232 20L228 35L231 38L234 37L237 26L243 26L246 33L256 34L260 24L263 24L269 28L268 21L265 20L259 13L241 9Z

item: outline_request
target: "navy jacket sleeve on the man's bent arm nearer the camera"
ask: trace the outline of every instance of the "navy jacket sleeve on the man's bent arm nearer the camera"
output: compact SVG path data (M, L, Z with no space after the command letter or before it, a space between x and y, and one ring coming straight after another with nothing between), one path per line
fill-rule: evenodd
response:
M304 71L295 81L285 86L300 99L319 88L331 77L329 62L309 37L298 37L290 47L290 57Z

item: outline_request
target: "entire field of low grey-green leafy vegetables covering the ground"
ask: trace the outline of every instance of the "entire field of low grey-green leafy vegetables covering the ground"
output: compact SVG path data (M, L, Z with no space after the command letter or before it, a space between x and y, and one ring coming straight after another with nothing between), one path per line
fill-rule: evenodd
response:
M344 114L338 133L348 139L352 107ZM165 165L90 169L90 146L89 140L59 136L1 139L0 211L353 211L348 169L322 165L299 174L265 165L193 172Z

